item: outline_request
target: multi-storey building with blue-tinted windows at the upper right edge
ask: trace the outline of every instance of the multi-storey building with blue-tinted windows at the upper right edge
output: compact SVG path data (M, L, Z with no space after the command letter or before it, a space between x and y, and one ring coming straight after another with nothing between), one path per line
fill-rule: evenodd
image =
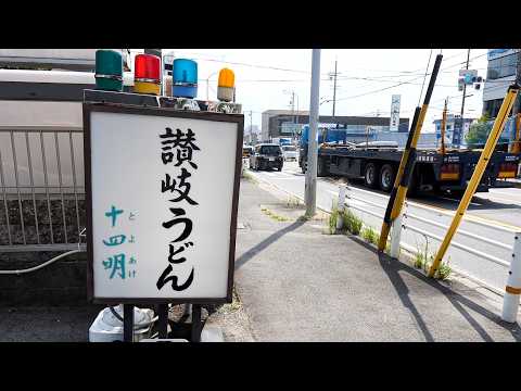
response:
M486 113L494 118L499 112L505 92L508 86L516 79L518 52L519 49L488 50L488 66L483 88L483 114ZM519 112L519 97L516 105L517 108L513 108L513 112Z

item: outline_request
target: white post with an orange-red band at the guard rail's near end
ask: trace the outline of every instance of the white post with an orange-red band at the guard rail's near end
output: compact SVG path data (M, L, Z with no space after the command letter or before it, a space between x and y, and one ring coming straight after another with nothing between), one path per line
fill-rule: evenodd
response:
M519 294L521 293L521 232L516 232L513 238L512 261L508 272L505 297L503 299L501 319L514 323L518 317Z

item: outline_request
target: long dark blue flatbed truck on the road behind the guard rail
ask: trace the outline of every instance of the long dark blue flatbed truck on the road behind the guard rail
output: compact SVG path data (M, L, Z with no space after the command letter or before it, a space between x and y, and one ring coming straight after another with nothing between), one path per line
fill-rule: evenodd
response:
M336 134L338 133L338 134ZM351 143L342 140L341 131L319 131L317 175L364 179L368 188L390 192L403 154L397 143L389 141ZM331 141L334 139L334 141ZM307 135L303 131L298 164L307 167ZM481 150L418 149L409 192L450 192L459 197L467 188ZM514 178L520 162L519 153L495 151L476 191L486 192L497 179Z

